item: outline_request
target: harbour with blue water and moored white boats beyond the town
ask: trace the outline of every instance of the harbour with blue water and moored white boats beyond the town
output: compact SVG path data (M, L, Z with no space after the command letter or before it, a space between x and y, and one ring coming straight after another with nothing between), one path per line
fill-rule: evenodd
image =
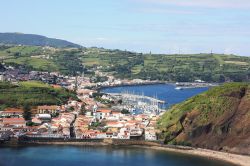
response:
M135 103L137 103L137 105L147 103L147 105L158 107L159 112L161 112L173 104L182 102L209 89L209 87L188 88L183 90L177 90L175 88L176 86L174 84L131 85L104 88L101 92L123 98L124 101L129 101L133 106Z

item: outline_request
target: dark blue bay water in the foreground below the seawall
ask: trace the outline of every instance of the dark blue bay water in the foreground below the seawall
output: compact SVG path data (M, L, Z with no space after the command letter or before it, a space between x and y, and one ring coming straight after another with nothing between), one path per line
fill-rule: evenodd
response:
M230 166L202 157L143 148L0 147L0 166Z

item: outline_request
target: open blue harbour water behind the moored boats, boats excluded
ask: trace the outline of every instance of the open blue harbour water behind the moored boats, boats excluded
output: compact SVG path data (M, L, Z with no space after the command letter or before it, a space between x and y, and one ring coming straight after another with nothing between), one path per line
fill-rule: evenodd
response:
M135 94L144 94L145 96L157 97L166 102L165 108L173 104L180 103L192 96L207 91L209 88L190 88L176 90L173 84L155 84L155 85L140 85L140 86L121 86L102 89L105 93L121 93L133 92Z

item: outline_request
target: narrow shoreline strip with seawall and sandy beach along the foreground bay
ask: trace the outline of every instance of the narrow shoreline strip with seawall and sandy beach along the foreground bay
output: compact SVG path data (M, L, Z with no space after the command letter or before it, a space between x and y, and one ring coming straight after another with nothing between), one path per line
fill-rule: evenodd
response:
M2 146L3 145L3 146ZM64 146L92 146L92 147L131 147L131 148L145 148L152 150L160 150L172 153L193 155L203 157L211 160L218 160L225 163L230 163L237 166L249 166L250 156L233 154L221 151L214 151L209 149L194 148L194 147L183 147L183 146L168 146L159 145L157 143L148 142L146 144L124 144L124 143L113 143L109 141L103 142L26 142L21 144L0 144L1 147L18 147L18 146L29 146L29 145L64 145Z

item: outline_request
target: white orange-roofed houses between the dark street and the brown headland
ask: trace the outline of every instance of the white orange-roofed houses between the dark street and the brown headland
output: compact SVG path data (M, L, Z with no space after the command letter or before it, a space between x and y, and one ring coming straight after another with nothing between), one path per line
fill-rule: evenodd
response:
M80 115L74 123L78 139L146 139L156 140L148 115L125 115L110 109L97 109L92 116ZM94 126L94 127L93 127Z

